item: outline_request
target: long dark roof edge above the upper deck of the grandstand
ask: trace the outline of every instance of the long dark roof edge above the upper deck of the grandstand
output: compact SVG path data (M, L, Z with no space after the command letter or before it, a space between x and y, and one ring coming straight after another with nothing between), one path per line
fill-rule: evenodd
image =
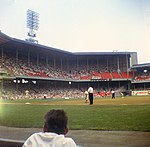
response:
M53 53L62 53L62 54L66 54L66 55L69 54L69 55L77 55L77 56L130 55L132 53L135 53L135 52L117 52L117 51L113 51L113 52L69 52L69 51L64 51L62 49L57 49L57 48L48 47L48 46L37 44L37 43L32 43L32 42L25 41L25 40L12 38L12 37L5 35L1 31L0 31L0 45L20 47L22 49L24 49L25 47L36 48L39 50L44 49L44 50L52 51Z

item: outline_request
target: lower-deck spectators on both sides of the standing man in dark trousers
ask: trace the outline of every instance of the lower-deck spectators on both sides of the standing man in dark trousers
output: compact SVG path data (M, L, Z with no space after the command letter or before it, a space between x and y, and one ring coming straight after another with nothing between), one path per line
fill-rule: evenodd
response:
M94 87L94 97L109 97L111 96L111 89L112 88L103 88L103 87ZM123 91L123 89L120 87L113 87L113 89L116 91L116 93L119 93L120 91ZM3 85L3 91L1 94L1 99L9 99L9 100L15 100L15 99L56 99L56 98L85 98L85 91L87 90L87 87L81 86L81 87L72 87L71 85L63 86L57 84L57 86L54 85L48 85L45 83L44 85L41 85L37 87L37 85L28 86L28 84L18 84L15 83L4 83Z

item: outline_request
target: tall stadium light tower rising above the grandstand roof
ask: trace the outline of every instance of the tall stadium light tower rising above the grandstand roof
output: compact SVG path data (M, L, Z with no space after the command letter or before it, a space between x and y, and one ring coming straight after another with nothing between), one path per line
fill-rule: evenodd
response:
M36 37L35 31L37 31L39 28L39 13L29 9L27 10L27 28L29 29L28 31L29 38L26 39L26 41L38 43L38 41L35 40L34 38Z

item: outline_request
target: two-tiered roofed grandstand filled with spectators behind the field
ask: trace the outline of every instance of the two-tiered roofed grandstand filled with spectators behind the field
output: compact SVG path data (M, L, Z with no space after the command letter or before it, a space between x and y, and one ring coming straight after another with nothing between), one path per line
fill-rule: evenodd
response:
M138 64L136 52L72 53L0 32L0 63L2 99L77 98L89 85L100 97L150 89L150 64Z

